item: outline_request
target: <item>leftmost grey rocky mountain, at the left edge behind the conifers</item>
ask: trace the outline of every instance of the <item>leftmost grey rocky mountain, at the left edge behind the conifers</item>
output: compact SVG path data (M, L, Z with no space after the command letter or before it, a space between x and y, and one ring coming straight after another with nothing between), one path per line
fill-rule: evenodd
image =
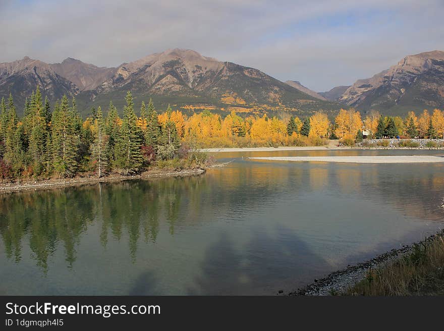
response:
M73 82L39 60L24 57L22 60L0 64L0 97L7 98L11 92L19 109L37 85L42 94L52 100L64 94L73 96L80 92Z

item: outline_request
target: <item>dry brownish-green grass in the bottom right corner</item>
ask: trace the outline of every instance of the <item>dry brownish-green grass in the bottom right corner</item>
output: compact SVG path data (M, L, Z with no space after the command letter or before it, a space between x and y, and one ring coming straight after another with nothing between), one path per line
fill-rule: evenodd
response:
M375 269L347 295L444 295L444 232L414 244L408 255Z

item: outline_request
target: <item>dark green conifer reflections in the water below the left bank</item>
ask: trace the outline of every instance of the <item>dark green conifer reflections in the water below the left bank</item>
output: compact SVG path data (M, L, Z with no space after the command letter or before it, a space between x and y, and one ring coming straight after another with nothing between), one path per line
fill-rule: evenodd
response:
M169 223L170 233L174 234L179 220L187 219L179 217L181 208L198 206L194 201L198 193L194 191L202 185L205 185L202 178L187 177L99 183L0 196L0 235L6 256L19 262L23 240L27 237L31 257L44 272L49 256L58 245L63 245L65 259L72 267L82 233L95 224L100 227L99 240L103 247L110 237L120 241L128 236L134 260L140 236L145 242L156 241L159 218Z

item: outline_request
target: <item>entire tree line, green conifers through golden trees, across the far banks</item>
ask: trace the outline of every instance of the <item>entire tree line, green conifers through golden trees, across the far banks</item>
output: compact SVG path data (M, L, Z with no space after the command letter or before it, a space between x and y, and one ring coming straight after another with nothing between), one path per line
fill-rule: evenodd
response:
M353 108L341 109L334 123L323 112L300 119L248 116L231 112L225 118L205 110L187 117L180 111L158 114L150 99L142 102L140 116L131 92L123 117L112 101L106 115L91 109L85 120L76 100L64 96L53 107L42 100L39 88L27 99L19 118L12 96L0 103L0 179L18 177L74 177L78 173L124 175L146 170L157 160L187 156L186 146L246 147L320 145L324 139L360 141L368 138L443 138L444 114L424 110L417 117L381 116L376 111L364 119ZM183 145L183 146L182 146Z

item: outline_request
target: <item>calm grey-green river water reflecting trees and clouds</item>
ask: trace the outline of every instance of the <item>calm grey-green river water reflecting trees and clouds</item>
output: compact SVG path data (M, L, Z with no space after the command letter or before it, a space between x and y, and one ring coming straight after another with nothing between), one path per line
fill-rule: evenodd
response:
M274 295L443 226L442 163L215 154L224 168L0 195L0 295Z

